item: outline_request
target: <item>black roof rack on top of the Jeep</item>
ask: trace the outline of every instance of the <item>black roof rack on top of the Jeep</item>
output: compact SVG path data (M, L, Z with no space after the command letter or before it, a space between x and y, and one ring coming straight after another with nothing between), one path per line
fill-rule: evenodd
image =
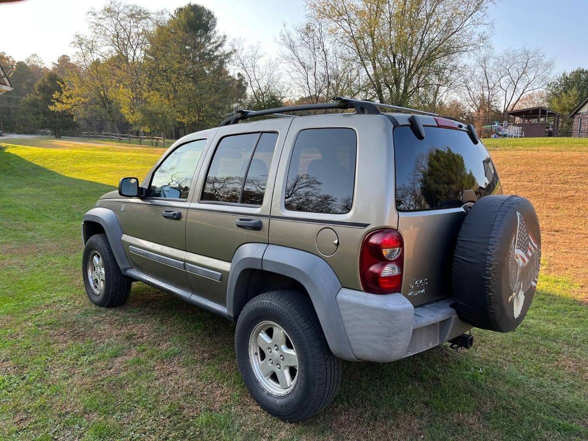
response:
M379 102L372 102L372 101L362 101L359 99L352 99L352 98L343 98L341 96L335 96L333 98L332 103L316 103L316 104L299 104L296 106L285 106L285 107L276 107L273 109L264 109L260 111L248 111L248 110L238 110L235 112L234 115L229 116L229 118L225 119L221 122L218 126L228 126L231 124L236 124L239 121L243 121L244 119L255 118L256 116L265 116L265 115L272 115L272 116L290 116L293 117L294 115L284 115L284 113L289 112L300 112L300 111L308 111L308 110L324 110L324 109L355 109L357 113L366 113L368 115L379 115L380 109L390 109L399 112L409 112L409 113L417 113L419 115L432 115L437 116L436 113L430 112L423 112L417 109L410 109L407 107L400 107L400 106L393 106L390 104L382 104Z

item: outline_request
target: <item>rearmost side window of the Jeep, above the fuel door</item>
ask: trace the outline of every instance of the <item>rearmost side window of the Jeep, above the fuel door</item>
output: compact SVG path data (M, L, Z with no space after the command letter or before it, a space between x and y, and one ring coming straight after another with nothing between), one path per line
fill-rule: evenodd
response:
M356 149L353 129L300 131L288 169L286 209L348 213L353 203Z

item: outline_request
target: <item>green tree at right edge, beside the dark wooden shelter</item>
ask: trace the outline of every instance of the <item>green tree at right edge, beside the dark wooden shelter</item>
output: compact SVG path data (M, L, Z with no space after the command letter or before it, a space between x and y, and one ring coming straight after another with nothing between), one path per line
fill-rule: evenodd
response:
M563 72L547 85L549 107L569 115L588 96L588 69Z

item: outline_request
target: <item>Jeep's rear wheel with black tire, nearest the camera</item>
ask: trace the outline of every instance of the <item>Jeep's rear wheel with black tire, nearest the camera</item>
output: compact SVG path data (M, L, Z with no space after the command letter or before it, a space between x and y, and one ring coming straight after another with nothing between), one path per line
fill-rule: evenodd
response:
M280 419L310 418L339 389L341 361L330 352L312 302L299 292L250 300L239 315L235 351L249 393Z

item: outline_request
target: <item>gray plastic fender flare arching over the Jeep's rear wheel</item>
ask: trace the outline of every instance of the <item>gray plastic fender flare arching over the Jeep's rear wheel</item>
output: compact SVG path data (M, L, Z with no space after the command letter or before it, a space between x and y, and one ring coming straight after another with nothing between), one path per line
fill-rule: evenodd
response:
M246 269L262 269L288 276L301 283L315 307L330 350L339 358L356 360L336 301L341 283L325 260L312 253L285 246L253 243L241 246L233 256L229 271L229 315L234 312L233 298L239 295L238 279Z

